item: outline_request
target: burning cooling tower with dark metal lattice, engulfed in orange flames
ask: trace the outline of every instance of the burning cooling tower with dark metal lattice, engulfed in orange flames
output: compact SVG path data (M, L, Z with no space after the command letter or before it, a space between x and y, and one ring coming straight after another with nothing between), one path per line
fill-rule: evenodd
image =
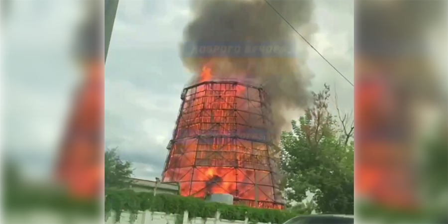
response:
M183 196L230 194L234 204L282 209L267 94L208 81L185 88L181 99L163 182L178 182Z

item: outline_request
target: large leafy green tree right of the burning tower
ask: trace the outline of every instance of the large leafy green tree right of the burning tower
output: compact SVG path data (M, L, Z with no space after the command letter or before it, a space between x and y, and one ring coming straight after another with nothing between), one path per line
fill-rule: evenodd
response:
M353 122L338 109L337 116L329 112L330 86L313 96L312 107L281 136L286 197L302 202L310 192L317 212L353 214Z

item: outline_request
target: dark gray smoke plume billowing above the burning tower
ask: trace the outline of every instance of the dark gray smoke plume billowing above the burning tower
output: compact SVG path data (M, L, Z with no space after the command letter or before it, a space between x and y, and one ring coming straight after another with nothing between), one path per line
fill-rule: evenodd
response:
M311 0L270 0L272 6L308 40L317 31L311 23ZM200 41L289 41L300 37L264 0L193 0L194 19L184 29L184 42ZM304 43L303 48L306 49ZM204 65L212 64L214 78L251 79L263 86L271 98L277 133L289 120L284 111L303 109L310 103L307 54L298 51L286 58L183 58L184 66L199 76ZM194 77L197 80L198 77Z

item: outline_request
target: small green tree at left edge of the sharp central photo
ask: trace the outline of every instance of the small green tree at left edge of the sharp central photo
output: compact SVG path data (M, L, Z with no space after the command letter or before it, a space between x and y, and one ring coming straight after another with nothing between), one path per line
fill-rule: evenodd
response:
M132 164L122 161L116 153L116 148L107 149L104 154L104 185L105 188L127 188L131 183Z

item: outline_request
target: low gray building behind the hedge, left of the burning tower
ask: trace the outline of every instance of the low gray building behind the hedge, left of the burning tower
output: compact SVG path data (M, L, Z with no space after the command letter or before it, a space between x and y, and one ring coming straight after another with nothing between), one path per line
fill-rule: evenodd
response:
M154 192L157 186L156 194L180 195L179 183L161 183L137 178L131 178L131 180L130 188L135 192Z

